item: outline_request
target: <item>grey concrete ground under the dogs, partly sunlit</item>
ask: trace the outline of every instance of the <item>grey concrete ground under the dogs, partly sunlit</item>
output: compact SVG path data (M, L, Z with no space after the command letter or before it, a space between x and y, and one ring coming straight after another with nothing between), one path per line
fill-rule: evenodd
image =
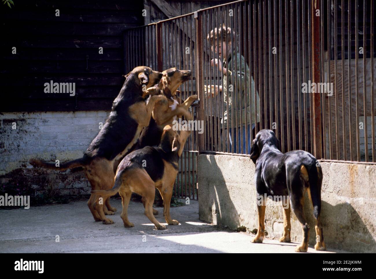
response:
M142 203L130 202L125 228L120 218L121 200L112 199L118 211L109 216L115 224L95 222L85 201L30 209L0 210L0 252L2 253L294 253L297 243L266 239L250 243L252 235L220 229L199 220L199 205L171 208L179 226L155 230L144 215ZM156 218L163 224L162 208ZM59 235L60 242L56 242ZM311 253L343 252L331 250Z

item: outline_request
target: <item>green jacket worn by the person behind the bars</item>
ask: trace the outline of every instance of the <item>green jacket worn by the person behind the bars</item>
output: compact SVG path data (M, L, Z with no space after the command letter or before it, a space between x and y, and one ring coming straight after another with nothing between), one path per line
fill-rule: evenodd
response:
M233 60L234 57L236 60ZM223 59L223 67L227 69L227 75L223 75L222 86L224 99L224 118L222 119L223 128L227 128L227 122L229 127L232 127L232 125L234 127L240 126L240 123L243 125L246 123L250 124L250 112L251 122L252 124L255 123L255 110L256 122L260 122L260 99L258 92L255 90L255 81L249 74L249 67L244 57L240 53L234 51L227 58L227 61L226 59ZM249 79L251 79L251 86ZM230 87L230 85L232 86ZM239 96L241 98L239 98ZM249 101L249 97L251 97L251 102ZM245 98L246 100L244 100Z

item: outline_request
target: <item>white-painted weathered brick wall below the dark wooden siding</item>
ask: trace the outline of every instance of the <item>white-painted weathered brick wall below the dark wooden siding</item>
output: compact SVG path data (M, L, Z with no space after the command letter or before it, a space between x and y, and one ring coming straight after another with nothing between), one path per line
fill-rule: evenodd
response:
M41 158L62 162L82 157L99 132L99 122L105 123L108 114L108 111L0 113L0 187L14 185L27 193L44 195L89 194L91 187L83 171L35 169L28 161Z

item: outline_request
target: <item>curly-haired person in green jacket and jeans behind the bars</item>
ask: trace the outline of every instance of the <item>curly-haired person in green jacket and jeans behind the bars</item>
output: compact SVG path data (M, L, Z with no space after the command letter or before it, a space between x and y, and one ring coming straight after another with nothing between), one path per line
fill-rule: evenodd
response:
M215 85L214 93L207 96L214 97L218 92L223 94L224 117L221 124L223 129L227 129L227 124L229 127L229 140L233 148L233 151L229 150L229 152L246 153L247 150L247 153L250 153L250 118L252 129L254 129L256 123L260 122L260 100L255 89L255 82L253 77L250 76L246 59L238 52L235 43L233 43L235 32L230 27L223 24L219 28L214 28L208 34L207 39L212 50L218 53L218 56L222 59L222 61L216 58L212 59L211 66L218 68L223 80L223 86ZM246 101L244 98L246 98ZM251 117L249 113L251 113Z

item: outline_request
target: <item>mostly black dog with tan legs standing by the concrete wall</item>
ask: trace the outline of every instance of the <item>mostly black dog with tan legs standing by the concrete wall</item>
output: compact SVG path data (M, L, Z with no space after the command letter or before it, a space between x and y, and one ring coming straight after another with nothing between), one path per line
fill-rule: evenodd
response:
M316 230L316 250L325 250L323 226L320 220L321 183L323 173L317 160L303 150L290 151L285 154L279 151L279 140L272 130L264 129L257 133L253 140L250 158L256 165L255 184L258 194L259 226L253 243L262 243L264 239L265 202L268 196L288 196L291 206L303 230L303 240L296 252L307 252L309 241L309 225L303 212L304 194L308 190L313 205ZM261 201L261 202L260 202ZM284 234L280 242L290 242L290 204L284 209Z

